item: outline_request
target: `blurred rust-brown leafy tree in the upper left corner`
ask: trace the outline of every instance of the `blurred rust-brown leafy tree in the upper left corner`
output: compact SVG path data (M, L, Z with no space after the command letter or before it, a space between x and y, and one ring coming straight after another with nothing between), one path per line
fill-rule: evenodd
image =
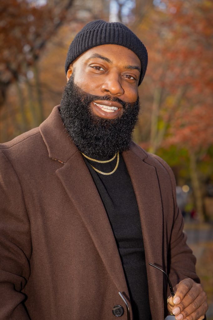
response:
M23 131L27 130L27 117L21 83L26 83L32 122L36 126L44 119L38 60L46 43L68 19L73 0L49 1L42 6L39 3L27 0L1 3L0 102L5 101L9 85L16 83ZM36 106L29 81L32 76Z

